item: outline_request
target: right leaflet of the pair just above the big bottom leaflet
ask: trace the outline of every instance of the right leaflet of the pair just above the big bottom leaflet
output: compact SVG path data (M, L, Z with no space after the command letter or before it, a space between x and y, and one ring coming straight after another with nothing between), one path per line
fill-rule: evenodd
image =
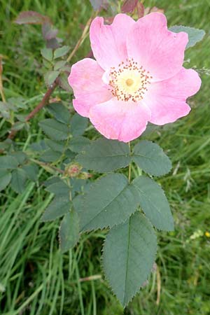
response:
M174 230L174 220L169 202L158 183L146 176L139 176L132 181L131 185L136 188L141 209L151 223L160 230Z

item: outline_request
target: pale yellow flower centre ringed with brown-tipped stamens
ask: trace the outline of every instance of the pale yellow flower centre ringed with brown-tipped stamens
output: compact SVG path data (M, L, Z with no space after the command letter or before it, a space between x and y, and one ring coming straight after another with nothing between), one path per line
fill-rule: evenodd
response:
M120 101L139 102L143 99L151 83L149 71L139 66L134 59L121 62L118 67L112 67L109 73L109 86L114 97Z

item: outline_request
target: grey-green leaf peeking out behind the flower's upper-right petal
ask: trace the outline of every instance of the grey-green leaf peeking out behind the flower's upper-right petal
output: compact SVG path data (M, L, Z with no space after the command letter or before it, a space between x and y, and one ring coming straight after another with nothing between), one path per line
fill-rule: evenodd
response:
M169 31L174 31L174 33L179 33L180 31L185 31L188 33L188 45L186 49L193 47L199 41L202 41L204 35L206 34L203 29L195 29L194 27L185 27L182 25L174 25L173 27L169 28Z

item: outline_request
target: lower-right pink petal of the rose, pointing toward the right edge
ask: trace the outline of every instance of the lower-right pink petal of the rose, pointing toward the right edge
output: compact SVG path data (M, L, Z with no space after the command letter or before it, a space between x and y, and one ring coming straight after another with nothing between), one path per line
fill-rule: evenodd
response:
M151 123L165 125L188 115L186 99L195 94L201 85L200 76L193 69L182 68L174 77L152 83L144 97L151 109Z

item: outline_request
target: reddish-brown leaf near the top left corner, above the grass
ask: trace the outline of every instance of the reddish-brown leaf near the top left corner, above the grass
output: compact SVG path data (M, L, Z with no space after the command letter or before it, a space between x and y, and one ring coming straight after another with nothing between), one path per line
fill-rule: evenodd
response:
M43 24L50 22L50 18L35 11L23 11L14 22L17 24Z

